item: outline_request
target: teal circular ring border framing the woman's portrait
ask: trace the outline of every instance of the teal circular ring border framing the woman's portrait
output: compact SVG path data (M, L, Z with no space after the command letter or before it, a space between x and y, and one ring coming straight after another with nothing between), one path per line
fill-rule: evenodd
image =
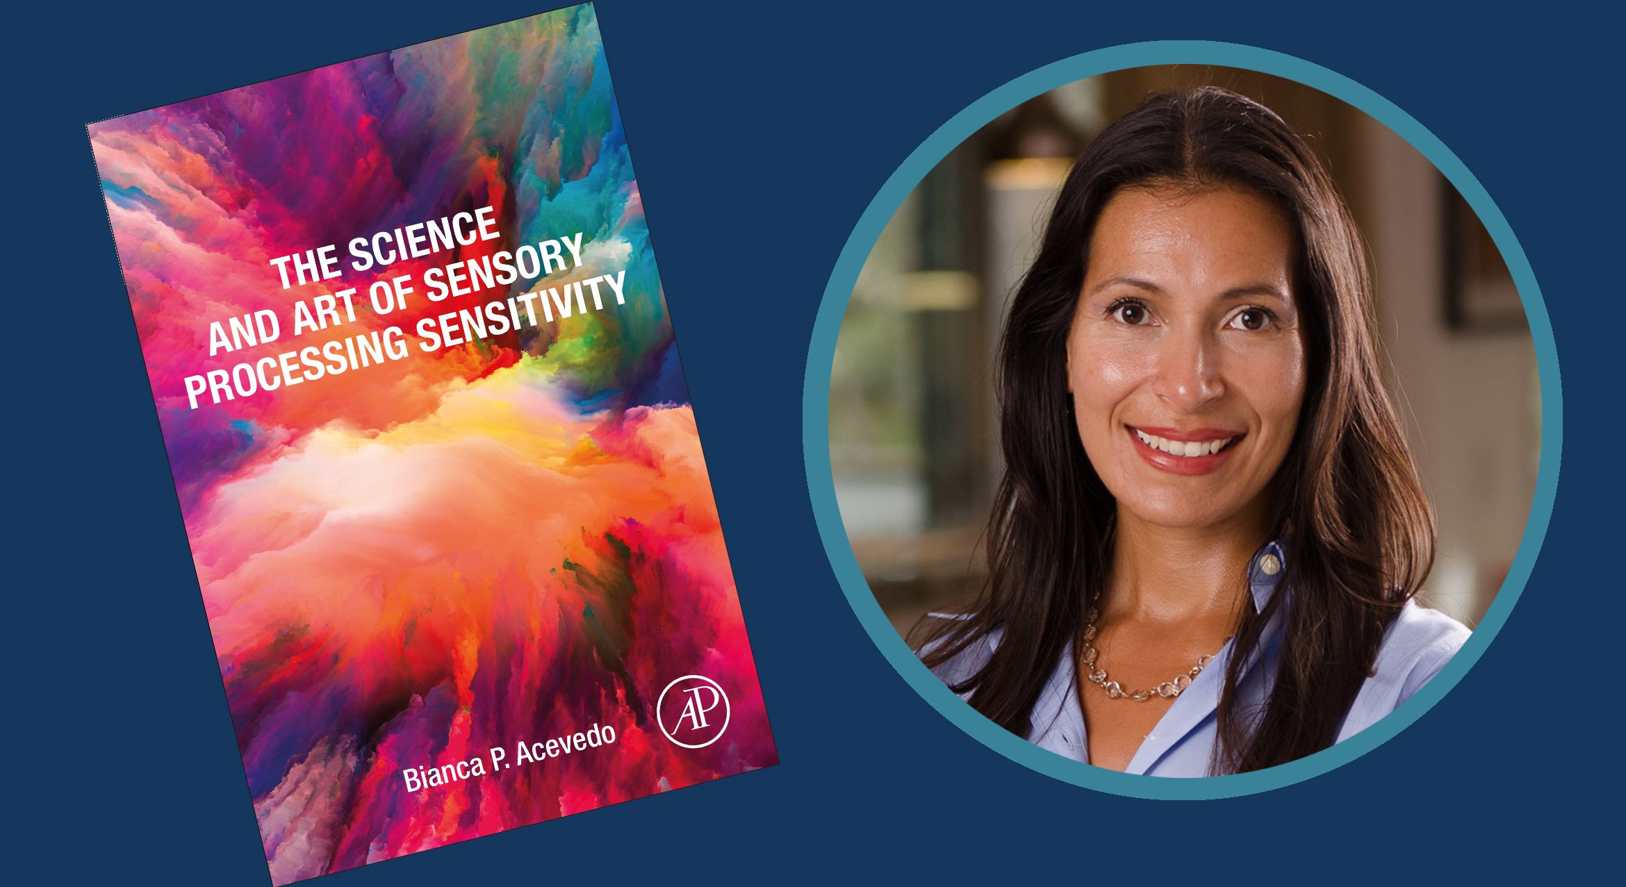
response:
M1405 705L1330 749L1254 773L1192 780L1130 775L1080 764L1033 746L1026 739L1005 731L950 692L937 676L920 664L914 651L909 650L909 645L898 637L898 632L886 619L886 614L881 612L875 595L863 580L859 562L852 554L852 546L847 543L847 531L841 520L841 508L836 505L836 484L829 468L829 370L836 356L836 336L841 331L841 318L852 296L852 288L859 279L859 270L880 237L881 227L898 211L898 206L902 205L915 184L956 145L969 138L971 133L1039 93L1046 93L1063 83L1122 68L1176 63L1249 68L1296 80L1364 110L1421 151L1457 187L1468 205L1473 206L1473 211L1480 214L1485 227L1496 240L1502 258L1507 262L1514 284L1519 288L1519 297L1524 301L1525 314L1530 318L1530 335L1535 340L1537 372L1540 374L1541 385L1541 460L1537 469L1530 521L1525 525L1519 552L1507 570L1506 580L1502 580L1502 588L1496 595L1496 601L1463 648ZM1496 208L1496 201L1485 192L1480 180L1468 172L1468 167L1457 159L1457 154L1393 102L1340 73L1268 49L1208 41L1127 44L1054 62L982 96L971 107L961 110L927 136L904 159L898 171L893 172L886 184L881 185L875 200L870 201L870 206L859 218L859 224L854 226L847 244L841 250L841 257L836 260L836 268L831 271L829 283L824 288L818 318L813 323L806 375L803 377L802 388L802 455L806 465L813 517L824 541L824 551L829 556L829 564L841 582L842 591L847 595L847 601L852 604L852 611L859 616L859 622L863 624L870 638L875 640L880 651L898 669L898 674L922 699L932 703L938 713L954 723L954 726L1023 767L1085 788L1151 799L1236 798L1293 785L1361 757L1423 716L1480 660L1480 655L1485 653L1485 648L1507 621L1507 612L1514 608L1514 603L1524 591L1525 582L1530 578L1530 570L1535 567L1541 539L1546 536L1546 528L1553 517L1563 434L1563 392L1558 375L1558 348L1553 341L1553 327L1546 315L1546 305L1541 302L1541 291L1535 283L1535 273L1530 270L1530 260L1525 258L1519 239L1514 237L1507 219Z

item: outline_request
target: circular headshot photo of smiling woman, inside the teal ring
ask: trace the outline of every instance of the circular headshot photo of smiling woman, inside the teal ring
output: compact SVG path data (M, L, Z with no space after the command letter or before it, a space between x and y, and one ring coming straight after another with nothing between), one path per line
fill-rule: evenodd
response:
M842 320L829 448L865 582L964 705L1216 777L1359 734L1468 642L1530 515L1540 382L1416 148L1289 80L1128 68L914 188Z

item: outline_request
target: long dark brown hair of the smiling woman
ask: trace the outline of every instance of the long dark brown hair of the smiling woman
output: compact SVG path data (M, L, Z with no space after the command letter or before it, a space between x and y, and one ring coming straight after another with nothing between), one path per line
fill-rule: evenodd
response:
M953 689L1005 729L1029 734L1039 692L1112 565L1115 502L1068 416L1065 351L1089 237L1120 188L1163 184L1254 192L1283 213L1298 240L1309 374L1270 517L1272 538L1291 538L1283 575L1291 595L1275 595L1262 612L1244 609L1213 760L1216 773L1259 770L1332 746L1385 629L1433 565L1434 515L1384 392L1354 221L1304 140L1228 89L1151 96L1073 164L1000 340L1005 476L985 536L989 583L961 619L924 619L911 640L937 668L998 632L982 668ZM1262 716L1242 716L1241 669L1281 608L1275 689Z

